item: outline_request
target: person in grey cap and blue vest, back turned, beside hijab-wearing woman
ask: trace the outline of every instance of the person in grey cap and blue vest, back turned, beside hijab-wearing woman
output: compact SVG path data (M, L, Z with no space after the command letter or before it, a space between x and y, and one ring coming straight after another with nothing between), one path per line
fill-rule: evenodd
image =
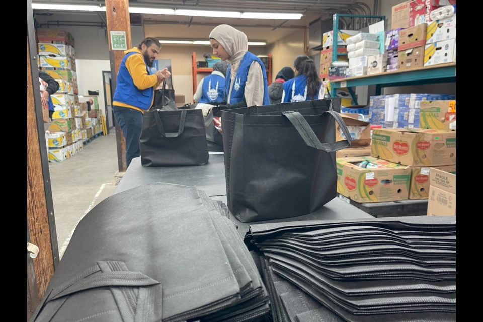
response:
M193 100L197 103L222 101L225 95L225 76L228 63L218 61L213 65L213 72L201 79Z

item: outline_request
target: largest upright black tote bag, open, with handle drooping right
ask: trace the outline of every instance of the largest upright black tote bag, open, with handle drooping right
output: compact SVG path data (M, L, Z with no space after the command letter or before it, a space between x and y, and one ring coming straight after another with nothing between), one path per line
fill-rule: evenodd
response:
M350 134L331 100L221 111L228 208L241 222L311 213L336 197ZM335 141L335 122L347 140Z

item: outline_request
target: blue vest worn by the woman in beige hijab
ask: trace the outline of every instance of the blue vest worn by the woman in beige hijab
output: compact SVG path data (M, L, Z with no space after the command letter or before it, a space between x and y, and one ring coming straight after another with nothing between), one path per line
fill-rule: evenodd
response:
M251 52L246 52L241 59L240 66L236 72L235 82L233 88L231 89L231 97L229 104L238 103L244 100L245 93L245 83L247 83L248 71L250 65L253 61L257 61L262 67L263 74L263 105L270 105L270 98L268 97L268 86L267 86L267 72L265 71L265 66L263 65L260 58L252 54ZM204 81L203 81L204 83ZM226 97L228 97L229 89L231 84L231 66L228 66L228 71L226 72Z

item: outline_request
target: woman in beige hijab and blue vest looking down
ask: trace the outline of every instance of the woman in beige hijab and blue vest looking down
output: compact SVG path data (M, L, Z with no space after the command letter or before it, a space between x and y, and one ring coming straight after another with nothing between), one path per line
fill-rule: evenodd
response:
M219 25L209 39L213 55L230 63L225 85L229 107L269 105L265 66L248 51L247 35L229 25Z

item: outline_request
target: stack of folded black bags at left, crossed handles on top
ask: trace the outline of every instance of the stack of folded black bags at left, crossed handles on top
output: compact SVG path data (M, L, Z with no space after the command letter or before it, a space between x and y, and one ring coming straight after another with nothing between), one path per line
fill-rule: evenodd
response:
M265 286L224 204L149 183L77 225L32 321L264 319Z

